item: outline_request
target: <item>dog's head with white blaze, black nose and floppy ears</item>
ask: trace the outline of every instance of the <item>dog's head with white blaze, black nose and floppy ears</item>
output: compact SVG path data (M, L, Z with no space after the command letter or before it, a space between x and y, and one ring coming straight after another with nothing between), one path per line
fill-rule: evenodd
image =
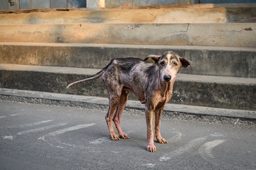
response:
M155 62L159 67L159 72L164 82L173 82L181 67L192 65L192 62L180 57L174 52L164 52L161 56L150 55L144 61Z

